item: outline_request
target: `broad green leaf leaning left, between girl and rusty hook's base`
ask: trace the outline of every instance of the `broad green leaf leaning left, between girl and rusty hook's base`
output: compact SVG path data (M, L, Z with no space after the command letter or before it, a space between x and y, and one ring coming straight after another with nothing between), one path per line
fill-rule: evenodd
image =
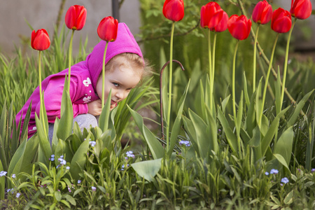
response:
M158 141L154 134L150 130L148 130L148 127L144 125L144 119L139 115L139 113L132 110L130 106L127 105L127 107L132 113L132 117L134 118L134 121L139 127L141 134L144 136L144 139L146 140L146 143L150 148L153 158L154 159L162 158L165 154L165 150L160 144L160 141Z

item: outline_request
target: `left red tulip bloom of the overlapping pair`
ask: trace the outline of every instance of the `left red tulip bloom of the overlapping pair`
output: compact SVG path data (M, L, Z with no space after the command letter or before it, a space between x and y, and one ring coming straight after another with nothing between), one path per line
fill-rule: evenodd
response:
M218 25L218 22L222 19L223 10L218 3L211 1L202 6L200 10L200 25L203 28L213 28Z

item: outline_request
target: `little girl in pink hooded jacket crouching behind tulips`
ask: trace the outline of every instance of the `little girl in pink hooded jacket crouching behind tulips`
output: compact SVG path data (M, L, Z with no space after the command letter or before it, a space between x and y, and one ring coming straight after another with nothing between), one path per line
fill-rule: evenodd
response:
M71 66L70 97L74 121L80 129L98 125L96 116L102 112L102 64L106 42L99 42L85 61ZM141 49L130 29L121 22L118 24L116 41L109 42L106 51L105 99L111 97L111 109L127 97L141 78L148 72ZM49 123L49 138L52 139L53 123L60 118L60 106L64 78L68 69L45 78L42 82L44 103ZM112 90L111 96L109 91ZM31 103L31 116L28 125L28 138L36 132L35 113L39 116L40 97L37 87L16 116L16 123L22 126ZM21 119L22 116L22 119Z

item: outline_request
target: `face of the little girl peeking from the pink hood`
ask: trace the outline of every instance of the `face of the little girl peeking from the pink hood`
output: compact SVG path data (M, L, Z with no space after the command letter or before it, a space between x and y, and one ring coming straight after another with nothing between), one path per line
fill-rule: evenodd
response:
M113 71L105 73L105 99L109 97L111 90L111 109L117 106L117 103L123 101L132 88L136 87L141 79L137 69L134 70L130 66L114 66ZM102 99L102 73L97 80L97 94Z

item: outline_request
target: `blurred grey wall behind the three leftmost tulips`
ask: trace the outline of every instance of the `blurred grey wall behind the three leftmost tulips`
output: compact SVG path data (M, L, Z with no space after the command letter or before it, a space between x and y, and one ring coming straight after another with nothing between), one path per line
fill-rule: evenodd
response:
M31 29L46 29L52 39L54 25L57 22L62 0L0 0L0 52L4 55L13 54L16 47L31 52L27 42L31 38ZM81 31L76 31L73 37L73 51L78 49L80 38L88 36L87 50L90 50L98 41L97 26L102 18L112 14L112 0L67 0L64 3L60 20L60 27L64 25L66 10L72 5L82 5L87 9L87 20ZM140 26L139 0L123 1L120 7L120 22L125 22L132 34L139 33ZM67 28L66 28L67 29ZM68 29L67 29L68 30ZM70 30L69 30L70 31ZM70 37L70 35L69 35Z

